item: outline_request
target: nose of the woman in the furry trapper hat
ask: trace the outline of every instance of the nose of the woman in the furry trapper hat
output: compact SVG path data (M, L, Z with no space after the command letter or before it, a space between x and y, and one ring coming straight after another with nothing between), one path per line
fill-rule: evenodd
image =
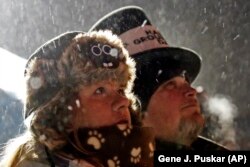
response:
M130 102L126 96L117 93L113 101L113 111L125 111L128 109L129 104Z

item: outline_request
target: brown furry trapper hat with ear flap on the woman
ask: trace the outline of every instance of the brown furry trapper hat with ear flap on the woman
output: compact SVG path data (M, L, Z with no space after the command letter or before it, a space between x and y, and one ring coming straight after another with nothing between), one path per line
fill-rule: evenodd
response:
M121 40L110 31L68 32L45 43L25 69L25 118L31 120L32 131L49 148L61 145L72 130L80 86L115 80L129 93L134 66Z

